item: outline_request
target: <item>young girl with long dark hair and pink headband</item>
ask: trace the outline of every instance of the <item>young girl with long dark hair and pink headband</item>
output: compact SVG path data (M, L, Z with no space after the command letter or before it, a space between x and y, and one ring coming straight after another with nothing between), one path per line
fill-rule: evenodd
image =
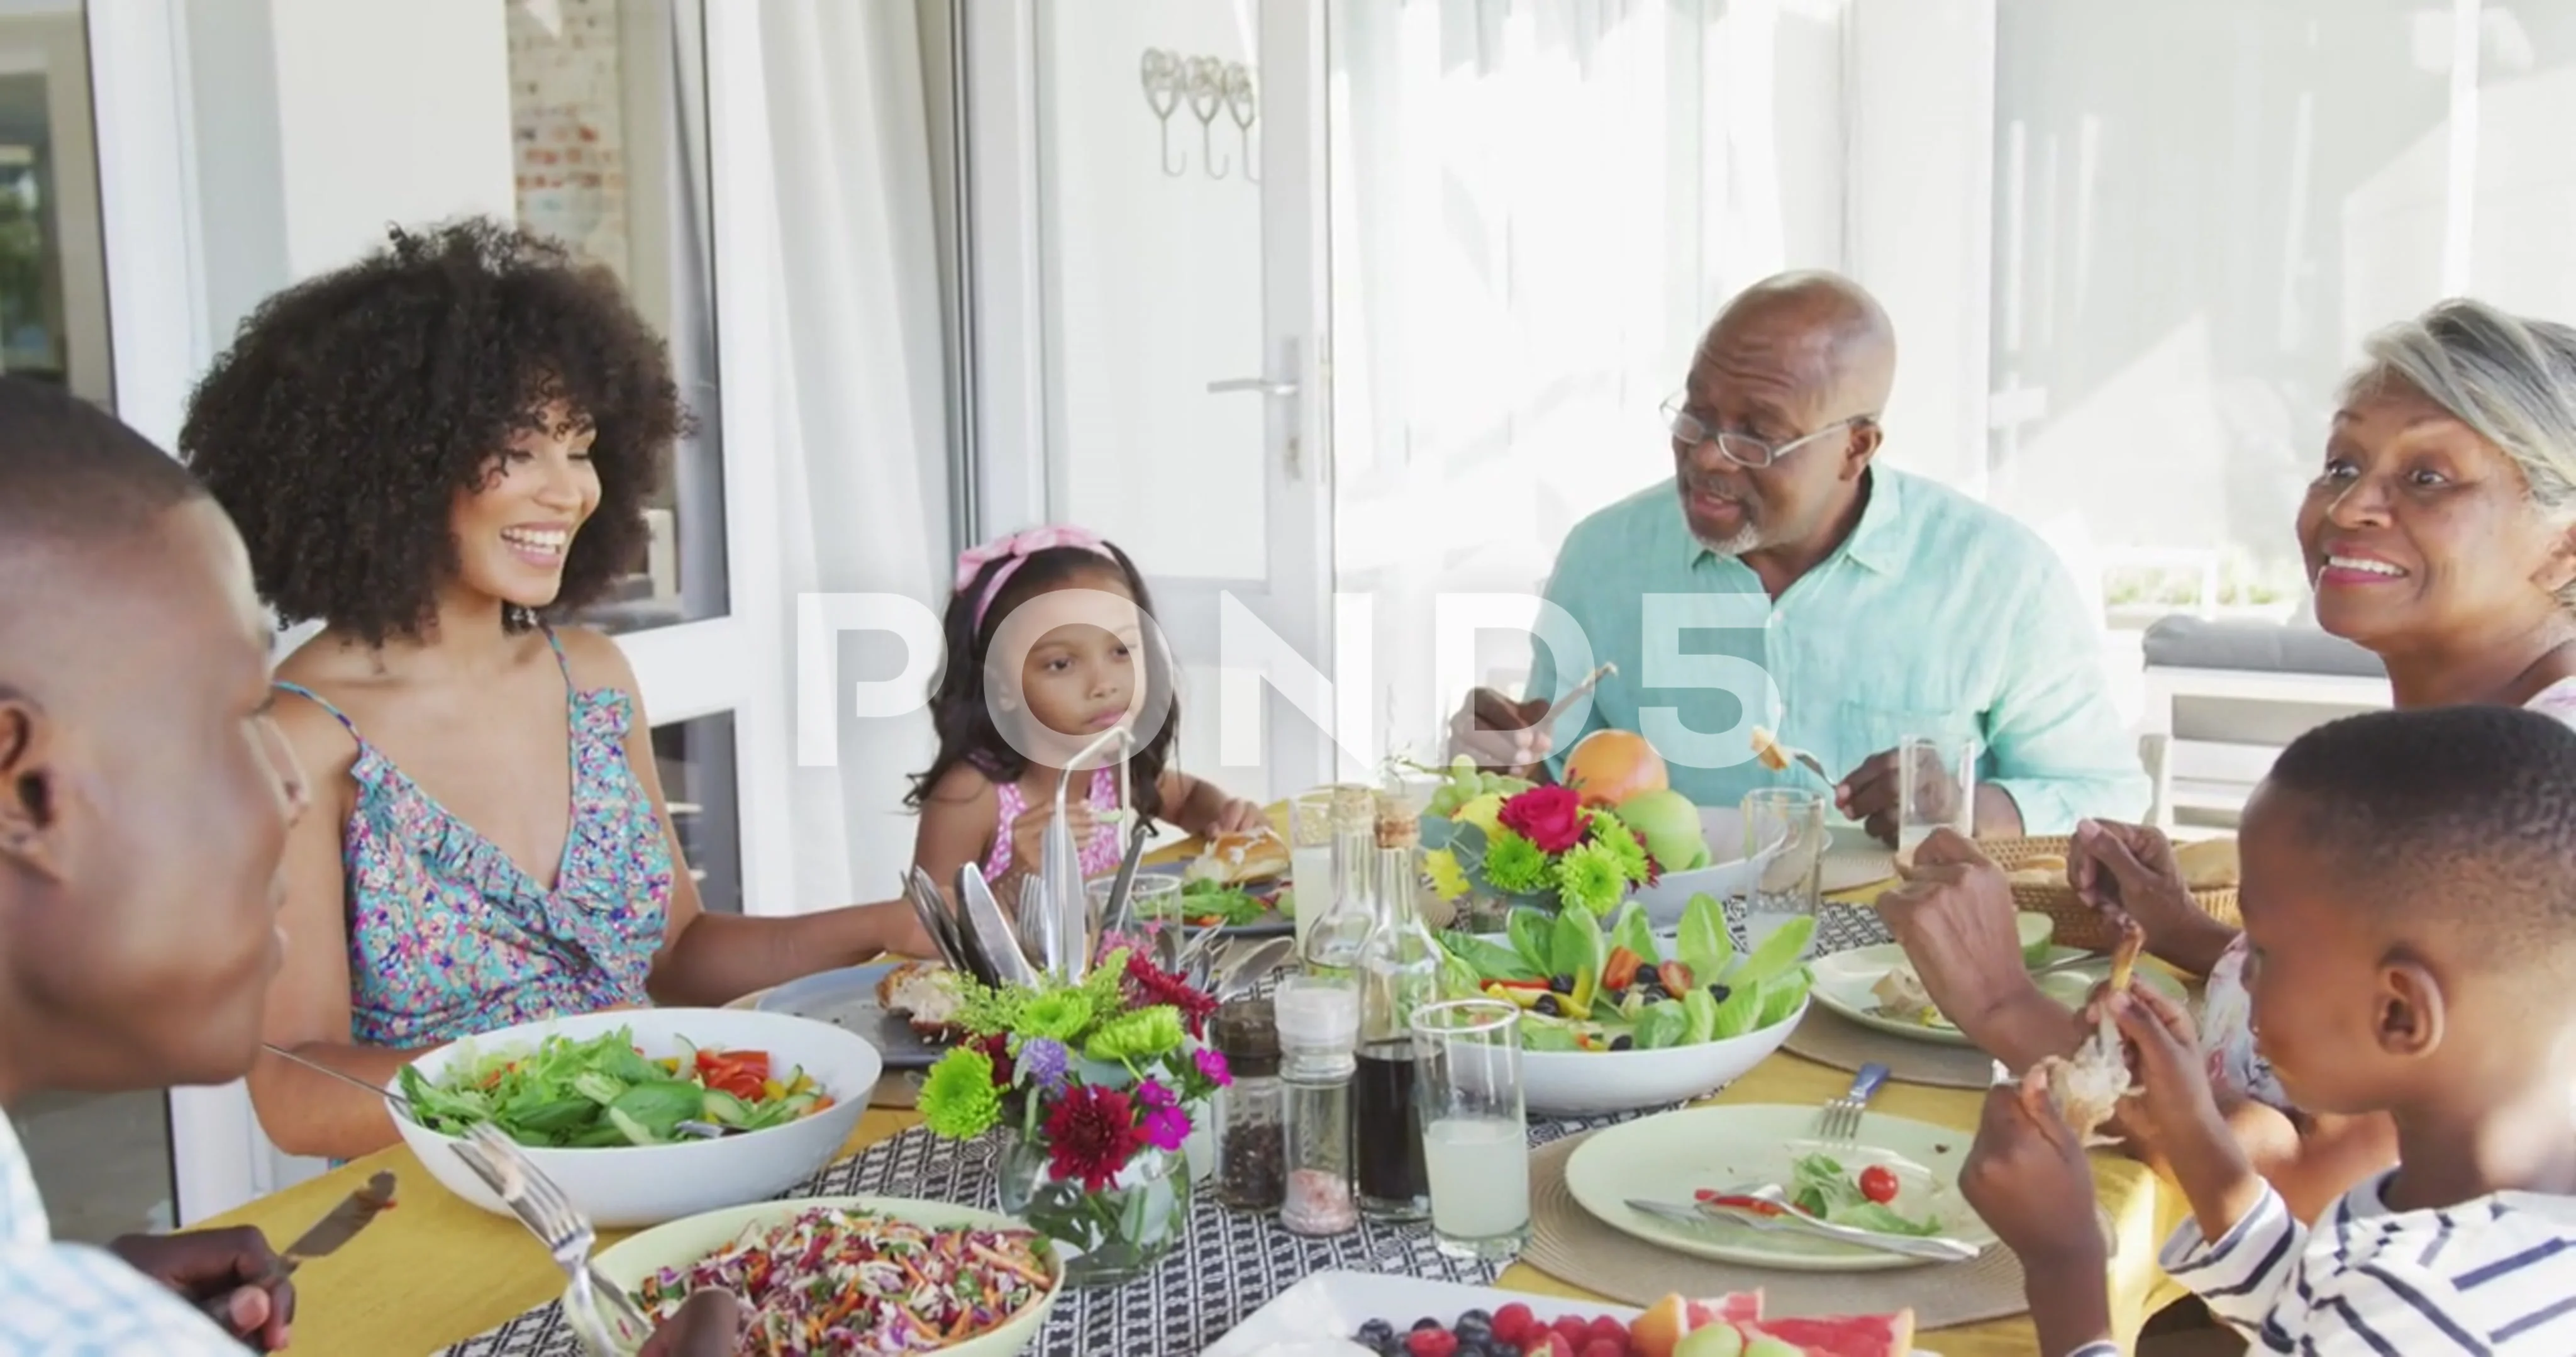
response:
M940 752L907 796L922 814L912 863L943 891L976 863L1002 899L1018 899L1015 878L1041 865L1056 780L1115 726L1136 736L1126 770L1095 760L1066 801L1082 875L1118 870L1121 785L1133 788L1136 814L1185 834L1267 824L1252 801L1167 767L1180 703L1151 615L1136 564L1084 528L1028 528L958 556L948 662L930 695Z

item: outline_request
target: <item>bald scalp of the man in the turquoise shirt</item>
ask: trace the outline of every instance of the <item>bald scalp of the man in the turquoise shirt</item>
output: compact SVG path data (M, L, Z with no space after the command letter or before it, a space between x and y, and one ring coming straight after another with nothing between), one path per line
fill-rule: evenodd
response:
M1896 327L1860 283L1826 270L1775 273L1739 291L1700 337L1695 366L1767 353L1824 386L1829 417L1880 415L1896 386Z

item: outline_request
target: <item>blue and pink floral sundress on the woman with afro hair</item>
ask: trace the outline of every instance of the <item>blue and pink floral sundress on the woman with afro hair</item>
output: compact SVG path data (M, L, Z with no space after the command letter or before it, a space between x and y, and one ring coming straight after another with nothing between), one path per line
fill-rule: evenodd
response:
M556 1015L641 1007L662 948L672 863L662 819L626 765L634 708L616 688L577 688L572 829L554 888L420 791L358 724L312 690L358 762L358 806L340 832L348 873L350 1040L417 1048Z

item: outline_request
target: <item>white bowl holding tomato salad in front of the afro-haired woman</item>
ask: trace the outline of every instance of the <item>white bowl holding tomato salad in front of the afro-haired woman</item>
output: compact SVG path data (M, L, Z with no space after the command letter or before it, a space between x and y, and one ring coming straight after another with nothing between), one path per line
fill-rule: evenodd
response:
M832 1105L809 1118L724 1136L719 1141L680 1141L672 1146L544 1148L526 1146L536 1169L564 1187L572 1205L600 1228L659 1226L703 1210L757 1203L804 1182L832 1161L850 1138L858 1115L884 1063L855 1033L811 1017L757 1009L623 1009L582 1017L554 1017L500 1027L479 1038L443 1045L412 1061L422 1079L438 1076L453 1061L484 1053L528 1053L549 1035L574 1040L626 1027L644 1056L677 1056L683 1040L706 1051L768 1051L775 1071L804 1069ZM386 1084L399 1097L402 1079ZM474 1169L456 1159L461 1138L440 1136L415 1123L402 1102L389 1102L394 1128L448 1192L495 1213L510 1210Z

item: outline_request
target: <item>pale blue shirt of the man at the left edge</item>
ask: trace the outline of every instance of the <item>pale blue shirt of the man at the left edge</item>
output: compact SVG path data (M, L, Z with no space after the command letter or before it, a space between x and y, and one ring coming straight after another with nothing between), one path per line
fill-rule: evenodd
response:
M0 1118L0 1357L242 1357L211 1318L106 1249L54 1244Z

